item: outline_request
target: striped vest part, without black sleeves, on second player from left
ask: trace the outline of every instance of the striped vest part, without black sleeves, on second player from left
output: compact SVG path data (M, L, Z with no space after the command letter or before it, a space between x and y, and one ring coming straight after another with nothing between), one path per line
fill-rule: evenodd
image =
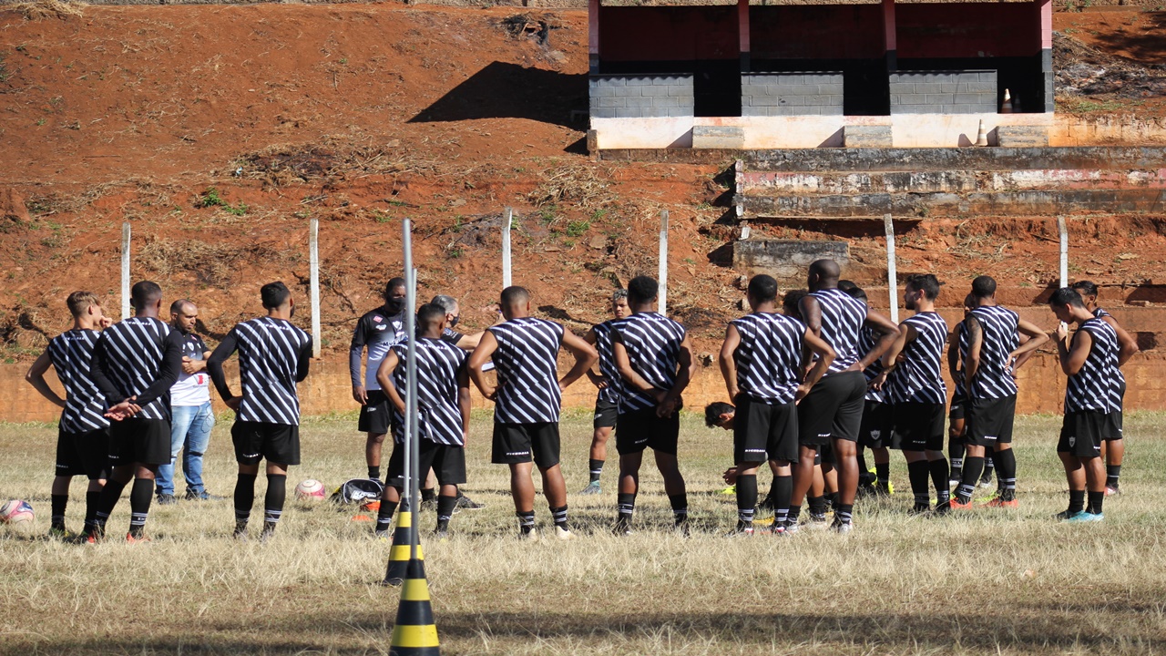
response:
M150 316L124 319L101 332L99 348L105 349L105 372L126 398L140 395L157 378L162 368L162 343L170 327ZM104 344L104 347L103 347ZM142 419L170 420L170 391L146 404Z

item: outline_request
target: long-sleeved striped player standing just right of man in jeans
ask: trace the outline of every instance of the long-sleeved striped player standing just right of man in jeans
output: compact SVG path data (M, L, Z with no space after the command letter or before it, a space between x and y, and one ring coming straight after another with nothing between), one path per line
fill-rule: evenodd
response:
M283 514L288 467L300 463L300 397L296 383L308 377L311 337L292 324L295 303L283 282L260 291L267 316L237 323L206 361L206 371L227 407L236 411L231 440L239 462L234 487L234 535L246 538L255 502L259 461L267 459L264 532L269 538ZM243 396L234 396L223 361L239 351Z

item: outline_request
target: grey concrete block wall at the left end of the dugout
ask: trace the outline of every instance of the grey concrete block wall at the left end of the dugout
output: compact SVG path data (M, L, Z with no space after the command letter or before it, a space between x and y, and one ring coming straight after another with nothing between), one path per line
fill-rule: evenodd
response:
M592 75L591 118L693 116L691 75Z

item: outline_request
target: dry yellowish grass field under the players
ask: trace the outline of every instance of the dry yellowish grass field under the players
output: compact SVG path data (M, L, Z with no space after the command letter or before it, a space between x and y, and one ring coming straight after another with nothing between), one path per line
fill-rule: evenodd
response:
M305 477L330 488L364 469L354 417L308 420ZM520 543L505 469L489 465L476 418L466 490L489 505L426 542L445 654L950 654L1166 650L1166 417L1126 420L1125 494L1097 525L1063 509L1053 453L1059 418L1018 423L1021 505L940 519L906 515L906 470L885 503L857 509L850 536L723 536L730 496L712 494L728 434L684 419L681 463L697 530L667 531L659 476L644 476L638 532L616 538L610 467L603 496L570 497L580 539ZM227 421L206 462L211 491L233 481ZM569 488L585 483L590 417L563 423ZM152 509L150 544L79 547L44 539L56 427L0 426L0 495L38 514L0 528L2 654L386 654L398 591L379 586L388 545L330 504L292 507L276 539L232 540L230 501ZM763 476L763 494L768 477ZM70 528L83 512L73 483ZM181 484L180 484L181 493ZM259 498L262 497L260 481ZM111 519L124 535L128 501ZM536 502L540 524L549 514ZM421 518L428 532L433 514Z

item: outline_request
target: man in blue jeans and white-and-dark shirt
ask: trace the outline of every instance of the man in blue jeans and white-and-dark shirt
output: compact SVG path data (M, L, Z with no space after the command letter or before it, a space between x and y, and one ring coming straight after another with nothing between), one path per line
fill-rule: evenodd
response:
M181 299L170 306L170 324L182 335L182 374L170 388L170 455L171 462L157 468L157 502L177 503L174 496L174 469L182 453L182 473L187 479L187 500L206 501L224 498L212 496L203 484L203 454L215 426L211 410L210 376L206 358L211 350L195 334L198 308Z

